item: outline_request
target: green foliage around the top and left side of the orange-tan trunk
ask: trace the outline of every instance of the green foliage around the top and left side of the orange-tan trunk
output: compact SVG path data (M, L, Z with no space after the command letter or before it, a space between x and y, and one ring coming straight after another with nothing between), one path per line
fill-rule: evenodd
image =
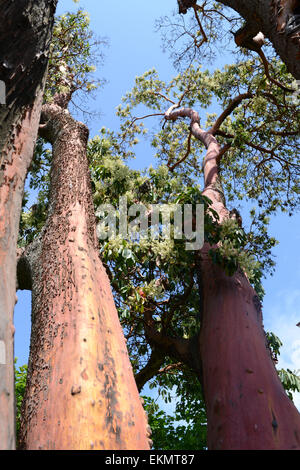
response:
M73 106L79 108L78 102L103 83L95 78L95 71L102 61L101 48L106 41L97 39L89 25L89 15L82 9L55 18L45 101L51 101L57 94L70 94ZM87 112L82 107L80 110ZM29 190L37 191L38 195L35 204L28 208L28 192L24 194L19 246L33 241L46 221L51 160L49 146L38 138L28 175Z

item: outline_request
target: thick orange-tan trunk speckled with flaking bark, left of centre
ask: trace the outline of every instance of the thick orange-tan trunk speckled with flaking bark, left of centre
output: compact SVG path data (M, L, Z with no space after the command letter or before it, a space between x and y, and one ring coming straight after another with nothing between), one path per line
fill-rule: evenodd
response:
M149 449L108 277L99 258L87 128L44 106L53 145L50 208L29 249L32 334L21 448Z

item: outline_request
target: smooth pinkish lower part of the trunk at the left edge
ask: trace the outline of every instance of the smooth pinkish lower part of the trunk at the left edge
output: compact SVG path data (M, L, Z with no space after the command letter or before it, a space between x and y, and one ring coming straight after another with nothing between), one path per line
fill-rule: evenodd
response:
M26 112L14 139L10 164L0 185L0 449L15 446L14 326L19 217L24 181L30 165L40 120L41 95Z

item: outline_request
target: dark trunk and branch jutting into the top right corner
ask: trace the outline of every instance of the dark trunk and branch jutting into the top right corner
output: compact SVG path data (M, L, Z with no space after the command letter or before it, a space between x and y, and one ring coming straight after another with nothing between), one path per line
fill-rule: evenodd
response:
M186 14L192 8L205 14L206 3L197 0L178 0L179 12ZM262 32L296 79L300 78L300 5L297 0L221 0L222 5L237 11L246 21L248 37Z

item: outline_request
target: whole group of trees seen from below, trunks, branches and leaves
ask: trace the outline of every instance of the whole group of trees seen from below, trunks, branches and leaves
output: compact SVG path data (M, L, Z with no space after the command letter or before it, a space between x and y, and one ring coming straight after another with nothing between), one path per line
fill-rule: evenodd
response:
M155 448L299 449L300 415L285 391L298 390L299 378L276 370L280 342L262 325L262 279L274 268L276 244L268 217L278 210L292 214L299 203L299 109L292 99L299 74L298 3L178 1L181 26L164 19L160 28L179 75L165 82L153 69L137 77L118 107L119 131L103 129L92 140L70 111L80 94L99 85L93 66L101 41L79 10L56 19L50 47L55 2L23 3L22 22L2 2L5 27L14 33L13 60L2 52L12 101L0 116L0 340L9 357L0 364L0 446L15 445L17 267L19 289L32 290L25 392L26 369L16 372L19 448L149 449L139 392L150 383L166 399L176 389L176 419L187 423L174 426L145 397ZM49 22L42 37L41 11ZM15 44L20 24L33 44L25 58ZM213 57L228 25L239 46L236 60L214 72L199 67L199 58ZM0 37L2 44L5 28ZM232 43L231 34L226 37ZM30 80L25 73L29 82L15 83L17 70L26 67L33 70ZM203 112L213 101L219 112L205 122ZM147 134L150 116L160 120L150 131L159 165L143 173L127 160ZM21 215L17 260L29 167L39 195ZM18 177L5 173L12 168ZM187 240L166 238L160 230L141 238L131 216L131 233L107 239L100 225L96 231L101 208L117 206L121 196L128 206L143 204L152 235L154 204L188 204L194 230L201 204L203 247L187 250ZM244 200L253 208L242 218L235 204Z

